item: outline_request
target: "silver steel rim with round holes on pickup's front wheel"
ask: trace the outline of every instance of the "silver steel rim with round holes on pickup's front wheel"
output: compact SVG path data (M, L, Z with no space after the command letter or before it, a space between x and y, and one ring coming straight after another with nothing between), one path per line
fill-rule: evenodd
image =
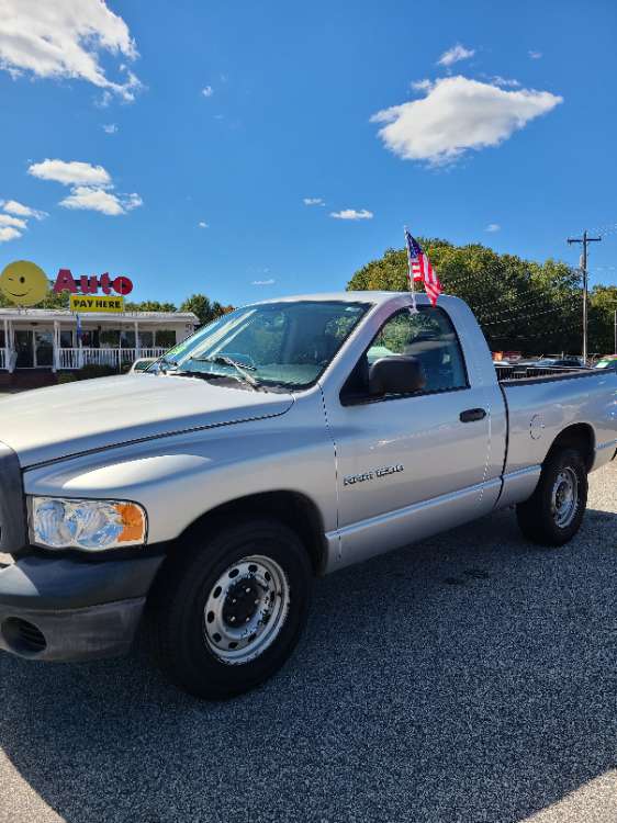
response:
M272 645L289 612L285 573L260 554L232 564L212 587L203 610L207 647L223 663L248 663Z

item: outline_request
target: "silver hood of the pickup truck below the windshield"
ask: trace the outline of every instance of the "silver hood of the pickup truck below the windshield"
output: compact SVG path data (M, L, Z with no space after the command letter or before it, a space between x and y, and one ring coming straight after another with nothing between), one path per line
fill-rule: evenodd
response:
M135 374L36 388L0 399L0 440L22 467L190 429L276 417L290 394Z

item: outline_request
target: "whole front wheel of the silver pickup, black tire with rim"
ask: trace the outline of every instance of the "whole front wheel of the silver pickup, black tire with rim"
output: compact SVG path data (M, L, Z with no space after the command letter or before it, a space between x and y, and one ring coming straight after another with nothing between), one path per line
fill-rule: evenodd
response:
M181 688L223 699L281 668L306 622L312 570L298 535L273 520L223 527L179 546L155 595L159 663Z

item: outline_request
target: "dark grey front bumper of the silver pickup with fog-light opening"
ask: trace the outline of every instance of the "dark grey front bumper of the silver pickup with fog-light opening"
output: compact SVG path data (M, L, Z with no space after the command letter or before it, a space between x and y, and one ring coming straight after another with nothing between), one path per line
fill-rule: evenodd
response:
M41 661L125 654L162 556L23 557L0 571L0 649Z

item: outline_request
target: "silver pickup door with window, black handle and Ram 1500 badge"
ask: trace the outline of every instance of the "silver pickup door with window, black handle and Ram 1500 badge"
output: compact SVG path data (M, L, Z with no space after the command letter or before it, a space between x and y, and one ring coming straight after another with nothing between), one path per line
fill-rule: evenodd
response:
M420 361L424 390L370 397L370 365L393 356ZM486 482L490 393L470 384L444 309L403 308L383 323L339 395L325 396L337 455L340 565L491 510L500 481Z

